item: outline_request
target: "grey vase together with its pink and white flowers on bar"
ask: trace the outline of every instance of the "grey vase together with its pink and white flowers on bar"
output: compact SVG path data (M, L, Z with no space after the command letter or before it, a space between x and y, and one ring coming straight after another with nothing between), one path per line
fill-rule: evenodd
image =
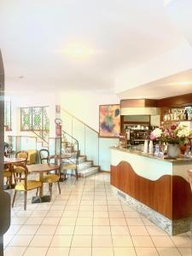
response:
M172 125L170 129L164 127L155 128L150 134L151 140L167 144L167 155L170 158L177 158L180 154L179 145L189 143L192 136L192 130L186 125Z

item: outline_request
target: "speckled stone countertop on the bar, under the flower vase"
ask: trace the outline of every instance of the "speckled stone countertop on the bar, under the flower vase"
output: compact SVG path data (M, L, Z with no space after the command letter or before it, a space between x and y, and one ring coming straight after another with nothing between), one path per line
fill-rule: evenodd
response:
M148 158L151 158L151 159L170 162L173 165L177 165L177 164L191 165L192 164L192 158L184 158L183 155L180 155L177 159L171 159L171 158L167 158L167 157L160 158L160 157L154 156L153 154L143 154L143 152L141 152L141 151L128 149L128 148L119 148L119 147L117 147L117 148L116 147L110 147L110 148L114 149L114 150L126 152L126 153L129 153L129 154L137 154L137 155L148 157Z

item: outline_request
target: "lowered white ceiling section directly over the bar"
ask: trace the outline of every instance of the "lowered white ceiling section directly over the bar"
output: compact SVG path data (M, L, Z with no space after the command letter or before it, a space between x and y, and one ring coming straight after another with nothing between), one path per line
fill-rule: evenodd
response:
M192 69L119 93L121 99L161 99L192 93Z

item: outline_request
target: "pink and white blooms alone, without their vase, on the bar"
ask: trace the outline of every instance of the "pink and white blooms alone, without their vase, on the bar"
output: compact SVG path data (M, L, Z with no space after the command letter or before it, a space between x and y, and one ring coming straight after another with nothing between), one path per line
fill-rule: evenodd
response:
M183 124L172 125L170 129L155 128L150 134L151 140L169 144L186 144L189 143L189 138L191 137L192 130Z

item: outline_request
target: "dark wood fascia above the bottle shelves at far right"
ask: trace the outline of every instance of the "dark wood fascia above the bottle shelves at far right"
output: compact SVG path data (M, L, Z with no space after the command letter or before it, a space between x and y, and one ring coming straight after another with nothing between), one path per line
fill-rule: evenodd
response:
M158 106L168 108L192 106L192 93L160 99Z

